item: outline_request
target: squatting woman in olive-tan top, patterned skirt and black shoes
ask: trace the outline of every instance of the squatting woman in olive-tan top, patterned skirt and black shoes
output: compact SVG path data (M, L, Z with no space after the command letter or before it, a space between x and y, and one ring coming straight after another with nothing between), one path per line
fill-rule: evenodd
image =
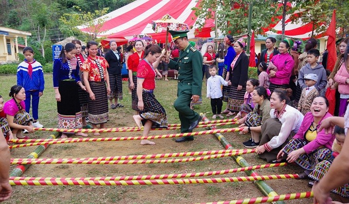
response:
M246 148L256 148L259 145L261 125L270 118L270 102L268 97L270 91L264 87L257 87L252 92L252 102L256 104L253 112L250 112L246 117L241 118L242 125L239 128L243 128L242 133L251 132L251 139L243 142L242 144ZM239 122L240 122L239 120Z

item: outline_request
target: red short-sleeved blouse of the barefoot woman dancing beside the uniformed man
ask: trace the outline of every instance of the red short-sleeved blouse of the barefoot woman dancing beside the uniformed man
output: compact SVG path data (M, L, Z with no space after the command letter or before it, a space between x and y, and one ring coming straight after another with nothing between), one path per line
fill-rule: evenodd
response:
M155 76L156 73L153 66L146 59L143 59L137 68L137 78L144 78L144 89L155 89Z

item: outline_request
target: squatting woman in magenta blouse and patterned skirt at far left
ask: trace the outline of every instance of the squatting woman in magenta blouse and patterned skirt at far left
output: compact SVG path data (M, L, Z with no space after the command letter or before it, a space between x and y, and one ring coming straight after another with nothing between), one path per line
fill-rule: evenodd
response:
M15 85L11 87L9 96L12 97L7 101L3 107L3 111L6 113L6 119L10 128L12 129L14 139L29 139L28 136L22 136L21 131L23 129L33 133L32 116L25 111L25 90L23 87Z

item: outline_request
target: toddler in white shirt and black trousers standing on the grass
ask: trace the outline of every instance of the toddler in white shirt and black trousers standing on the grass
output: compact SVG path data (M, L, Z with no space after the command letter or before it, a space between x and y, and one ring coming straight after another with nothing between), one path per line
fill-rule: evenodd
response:
M220 114L222 111L222 90L221 85L228 86L231 85L230 81L225 81L220 75L217 75L217 68L215 65L208 67L208 72L210 77L207 79L207 98L211 99L211 108L213 112L212 119L216 119L217 116L220 119L223 119L223 116Z

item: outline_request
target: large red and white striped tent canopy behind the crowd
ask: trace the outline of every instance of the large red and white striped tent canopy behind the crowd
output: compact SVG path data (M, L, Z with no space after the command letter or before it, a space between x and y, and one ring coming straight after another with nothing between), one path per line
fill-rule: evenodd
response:
M213 31L215 24L213 19L198 19L194 15L192 8L197 7L201 0L136 0L123 6L109 14L101 17L107 18L101 33L98 37L131 39L134 35L148 34L153 39L165 42L165 30L161 33L154 33L151 27L151 21L161 19L165 14L188 24L190 32L188 38L192 37L215 37ZM301 21L291 23L290 17L297 15L302 11L296 11L294 14L286 17L286 36L307 39L312 33L312 24L304 24ZM197 22L204 20L204 27L199 30ZM87 32L82 26L78 27ZM274 29L273 32L271 31ZM266 34L281 34L281 17L277 17L275 23L264 28ZM221 33L219 32L219 36ZM316 37L321 37L315 34ZM169 37L169 40L171 38ZM119 43L118 43L119 44Z

